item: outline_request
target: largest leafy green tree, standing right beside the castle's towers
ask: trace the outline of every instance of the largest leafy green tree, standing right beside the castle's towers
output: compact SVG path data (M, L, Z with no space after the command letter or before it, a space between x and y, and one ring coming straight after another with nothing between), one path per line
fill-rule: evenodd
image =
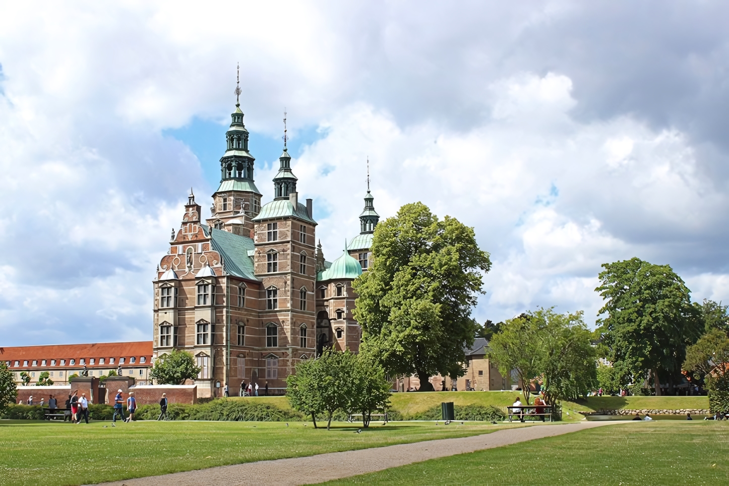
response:
M472 228L438 219L423 203L402 206L375 228L373 264L357 278L354 317L362 349L389 375L451 375L465 361L477 324L471 317L491 268ZM462 373L462 371L459 371Z

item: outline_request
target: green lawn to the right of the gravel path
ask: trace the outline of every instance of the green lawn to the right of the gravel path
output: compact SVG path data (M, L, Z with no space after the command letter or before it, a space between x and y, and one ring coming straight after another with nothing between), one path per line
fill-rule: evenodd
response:
M323 484L726 485L729 423L604 426Z

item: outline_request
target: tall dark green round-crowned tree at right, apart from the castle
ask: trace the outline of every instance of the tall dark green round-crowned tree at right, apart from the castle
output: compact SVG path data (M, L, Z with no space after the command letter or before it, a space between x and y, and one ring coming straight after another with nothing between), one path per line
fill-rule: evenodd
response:
M632 258L603 264L599 274L604 305L598 320L611 361L620 373L636 383L650 372L654 383L660 374L680 372L688 345L698 340L703 321L691 304L690 290L669 265ZM660 387L655 387L660 395Z

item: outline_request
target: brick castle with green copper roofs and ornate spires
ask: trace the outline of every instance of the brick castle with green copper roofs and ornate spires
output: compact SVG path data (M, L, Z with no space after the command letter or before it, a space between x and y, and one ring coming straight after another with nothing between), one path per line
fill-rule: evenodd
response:
M243 382L282 394L299 361L324 347L359 350L351 283L367 270L379 220L368 187L361 232L325 261L286 138L273 200L262 205L239 103L231 117L211 217L203 223L191 191L154 281L153 358L175 348L192 353L200 397L222 396L225 385L238 395Z

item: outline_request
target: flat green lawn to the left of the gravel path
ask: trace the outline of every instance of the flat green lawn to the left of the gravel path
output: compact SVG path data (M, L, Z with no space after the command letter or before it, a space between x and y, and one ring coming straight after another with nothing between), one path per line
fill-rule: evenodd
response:
M381 422L379 423L381 424ZM389 423L332 431L292 422L109 421L73 425L0 420L0 485L77 485L447 437L512 425ZM516 426L514 424L513 426Z

